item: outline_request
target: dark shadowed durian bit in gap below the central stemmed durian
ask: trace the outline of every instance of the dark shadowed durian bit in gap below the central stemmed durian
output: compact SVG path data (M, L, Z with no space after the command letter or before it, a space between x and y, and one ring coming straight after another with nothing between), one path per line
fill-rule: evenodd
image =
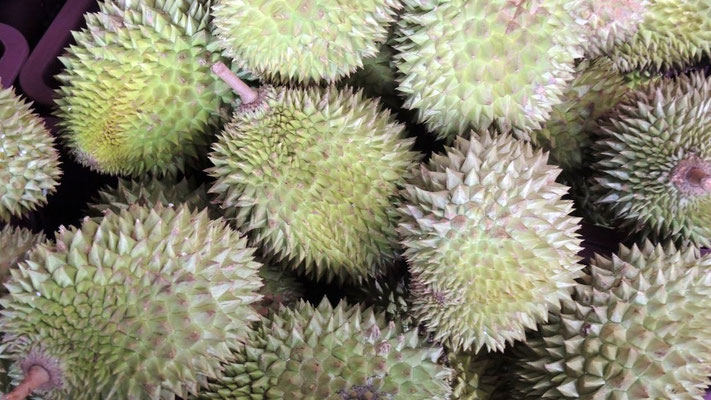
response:
M259 289L262 300L254 307L261 315L269 314L270 310L278 310L282 304L291 306L306 294L304 285L282 266L264 263L259 268L259 276L263 283Z

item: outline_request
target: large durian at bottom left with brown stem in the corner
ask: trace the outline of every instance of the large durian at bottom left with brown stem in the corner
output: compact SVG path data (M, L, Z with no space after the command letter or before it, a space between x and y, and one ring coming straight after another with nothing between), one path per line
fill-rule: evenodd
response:
M5 353L25 375L16 394L184 398L258 319L254 249L204 210L134 205L55 236L0 300Z

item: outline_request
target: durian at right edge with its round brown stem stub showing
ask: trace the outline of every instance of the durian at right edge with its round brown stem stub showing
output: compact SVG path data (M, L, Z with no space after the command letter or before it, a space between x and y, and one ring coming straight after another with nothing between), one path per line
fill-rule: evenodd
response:
M711 81L699 73L632 93L602 123L594 190L622 228L711 244Z

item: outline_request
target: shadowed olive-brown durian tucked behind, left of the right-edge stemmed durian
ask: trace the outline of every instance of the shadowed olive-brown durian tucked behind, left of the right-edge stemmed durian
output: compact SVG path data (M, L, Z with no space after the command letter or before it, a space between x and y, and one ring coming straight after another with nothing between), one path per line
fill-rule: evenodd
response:
M533 142L550 151L551 159L563 169L581 168L587 160L598 120L628 92L624 77L612 60L582 61L577 76L565 91L563 102L553 107L543 129L531 133Z

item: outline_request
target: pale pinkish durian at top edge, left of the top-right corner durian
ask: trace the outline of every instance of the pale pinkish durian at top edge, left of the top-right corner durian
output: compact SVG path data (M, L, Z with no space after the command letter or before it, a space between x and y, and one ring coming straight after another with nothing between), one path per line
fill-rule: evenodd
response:
M574 0L572 11L584 25L587 57L607 54L634 36L644 20L649 0Z

